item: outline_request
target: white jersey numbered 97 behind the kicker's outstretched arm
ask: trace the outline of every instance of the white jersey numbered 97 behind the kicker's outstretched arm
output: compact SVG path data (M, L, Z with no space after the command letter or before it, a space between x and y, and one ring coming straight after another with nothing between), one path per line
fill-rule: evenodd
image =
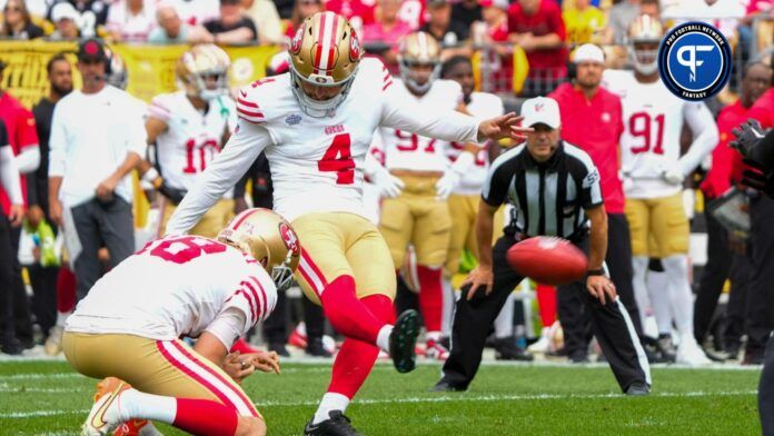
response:
M455 110L463 100L463 89L453 80L435 80L421 96L413 95L400 79L395 80L395 95L416 102L423 111L447 112ZM445 171L449 142L383 127L381 147L387 169L409 171Z

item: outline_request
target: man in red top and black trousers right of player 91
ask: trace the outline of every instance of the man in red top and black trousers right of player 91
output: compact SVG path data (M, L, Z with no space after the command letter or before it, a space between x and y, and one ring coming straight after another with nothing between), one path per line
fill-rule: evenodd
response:
M764 63L753 63L744 70L741 82L740 99L721 110L717 116L717 129L721 140L712 152L712 168L707 172L701 189L705 202L711 202L727 191L732 184L737 185L742 178L742 155L728 147L734 139L732 130L750 118L748 111L754 102L768 88L772 69ZM751 272L750 258L745 252L730 250L728 232L708 211L704 209L707 226L707 264L704 267L696 303L694 306L694 336L702 344L715 314L717 299L723 291L725 280L731 278L733 291L726 309L727 328L724 335L725 351L731 358L738 354L744 321L744 288ZM754 318L754 315L753 315Z

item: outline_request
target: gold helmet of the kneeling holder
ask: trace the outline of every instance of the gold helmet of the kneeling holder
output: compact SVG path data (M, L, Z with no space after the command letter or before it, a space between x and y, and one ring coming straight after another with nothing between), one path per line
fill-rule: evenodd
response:
M290 224L269 209L247 209L220 230L218 240L252 256L271 276L277 290L290 285L301 246Z

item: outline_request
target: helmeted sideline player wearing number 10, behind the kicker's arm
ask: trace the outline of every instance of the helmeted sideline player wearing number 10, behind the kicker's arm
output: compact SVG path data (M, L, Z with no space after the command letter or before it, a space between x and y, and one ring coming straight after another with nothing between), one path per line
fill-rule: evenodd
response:
M228 97L228 54L215 44L182 53L175 68L180 90L156 96L148 108L148 143L156 143L158 171L143 162L143 179L166 200L161 231L175 206L220 152L236 127L237 110ZM159 175L160 172L160 175ZM212 238L234 215L232 189L190 231Z

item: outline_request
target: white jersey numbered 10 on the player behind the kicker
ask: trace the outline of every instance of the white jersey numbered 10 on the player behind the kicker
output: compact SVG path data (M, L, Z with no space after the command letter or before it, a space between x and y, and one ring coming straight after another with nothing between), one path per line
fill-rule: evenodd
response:
M197 176L220 152L224 133L234 131L237 123L236 106L230 98L211 100L202 113L185 91L155 97L148 116L167 123L167 131L156 141L161 176L170 187L185 190L191 189ZM231 198L231 192L224 197Z

